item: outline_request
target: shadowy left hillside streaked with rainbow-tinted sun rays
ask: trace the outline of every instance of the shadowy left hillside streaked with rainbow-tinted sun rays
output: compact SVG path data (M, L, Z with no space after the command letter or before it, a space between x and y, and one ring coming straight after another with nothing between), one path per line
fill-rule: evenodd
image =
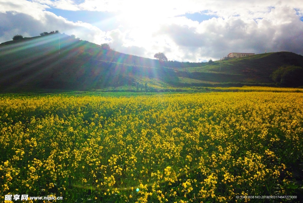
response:
M172 70L158 69L157 60L104 50L62 34L6 42L0 55L2 88L90 89L134 85L142 77L168 82L175 77L168 74Z

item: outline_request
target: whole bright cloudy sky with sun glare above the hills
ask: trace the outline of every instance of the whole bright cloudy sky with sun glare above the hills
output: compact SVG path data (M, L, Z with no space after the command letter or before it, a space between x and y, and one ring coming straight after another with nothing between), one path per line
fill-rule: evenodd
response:
M61 33L118 52L205 62L231 52L303 55L301 0L0 0L0 43Z

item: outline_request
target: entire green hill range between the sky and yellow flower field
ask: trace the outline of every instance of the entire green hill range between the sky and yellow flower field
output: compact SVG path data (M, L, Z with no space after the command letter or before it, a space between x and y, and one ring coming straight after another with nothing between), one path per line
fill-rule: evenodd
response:
M213 64L163 62L52 34L0 44L0 88L88 90L124 86L152 91L190 86L272 86L270 75L282 65L303 67L303 57L277 52Z

